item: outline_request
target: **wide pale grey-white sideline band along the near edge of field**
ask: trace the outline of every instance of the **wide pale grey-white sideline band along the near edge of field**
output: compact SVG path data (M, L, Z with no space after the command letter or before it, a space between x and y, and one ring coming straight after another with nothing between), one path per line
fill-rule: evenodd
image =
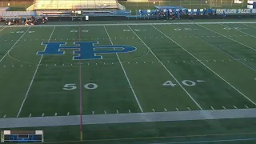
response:
M256 109L195 110L131 114L92 114L83 115L82 124L168 122L224 118L256 118ZM1 129L38 126L73 126L79 124L79 115L34 118L0 118Z

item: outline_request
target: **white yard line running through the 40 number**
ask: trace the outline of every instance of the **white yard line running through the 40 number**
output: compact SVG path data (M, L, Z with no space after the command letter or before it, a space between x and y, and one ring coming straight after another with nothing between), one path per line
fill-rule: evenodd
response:
M127 26L130 28L129 25L127 25ZM147 48L148 50L150 50L150 52L154 55L154 57L158 60L158 62L161 63L161 65L166 69L166 71L170 74L170 76L171 76L172 78L174 78L174 80L178 83L179 86L181 86L182 90L184 90L184 91L186 92L186 94L187 94L187 95L191 98L191 100L198 106L198 108L199 108L200 110L202 110L202 107L198 104L198 102L196 102L196 101L194 100L194 98L190 95L190 93L182 86L182 84L181 84L180 82L178 82L178 79L175 78L174 75L170 73L170 70L168 70L168 69L166 68L166 66L165 66L165 65L160 61L160 59L154 54L154 52L150 49L150 47L147 46L146 43L142 41L142 38L140 38L140 37L138 36L138 34L136 34L136 33L134 32L134 30L132 30L131 28L130 28L130 30L138 37L138 39L146 46L146 48Z

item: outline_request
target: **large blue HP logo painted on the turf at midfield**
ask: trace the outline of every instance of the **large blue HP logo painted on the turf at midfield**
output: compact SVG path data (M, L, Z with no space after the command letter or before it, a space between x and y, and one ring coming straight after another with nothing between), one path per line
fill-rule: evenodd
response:
M66 46L66 42L42 42L42 45L46 45L46 49L38 51L37 54L65 54L65 49L74 49L74 54L77 54L73 57L74 60L90 60L102 59L102 55L99 54L128 53L136 50L134 46L94 46L94 44L98 44L98 42L74 42L74 46Z

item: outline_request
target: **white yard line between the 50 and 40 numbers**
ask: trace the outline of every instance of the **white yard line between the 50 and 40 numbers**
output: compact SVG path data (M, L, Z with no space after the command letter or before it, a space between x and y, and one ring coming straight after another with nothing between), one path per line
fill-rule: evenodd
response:
M104 26L104 29L106 30L106 26ZM111 44L113 45L113 42L112 42L112 40L111 40L111 38L110 38L110 34L107 32L107 30L106 30L106 34L107 34L108 38L110 39ZM114 50L115 50L115 49L114 49ZM133 86L131 86L131 84L130 84L130 80L129 80L127 74L126 74L126 70L125 70L125 68L122 66L122 62L121 62L121 60L120 60L120 58L119 58L119 56L118 56L117 53L116 53L116 55L117 55L117 57L118 57L118 61L119 61L119 63L120 63L120 66L122 67L122 71L123 71L123 73L124 73L125 76L126 76L126 80L127 80L128 84L129 84L129 86L130 86L130 90L131 90L131 91L133 92L133 94L134 94L134 98L135 98L135 100L136 100L136 102L137 102L137 104L138 104L138 107L139 107L139 109L141 110L141 112L143 112L142 106L141 106L140 102L138 101L137 95L136 95L135 92L134 92L134 88L133 88Z

